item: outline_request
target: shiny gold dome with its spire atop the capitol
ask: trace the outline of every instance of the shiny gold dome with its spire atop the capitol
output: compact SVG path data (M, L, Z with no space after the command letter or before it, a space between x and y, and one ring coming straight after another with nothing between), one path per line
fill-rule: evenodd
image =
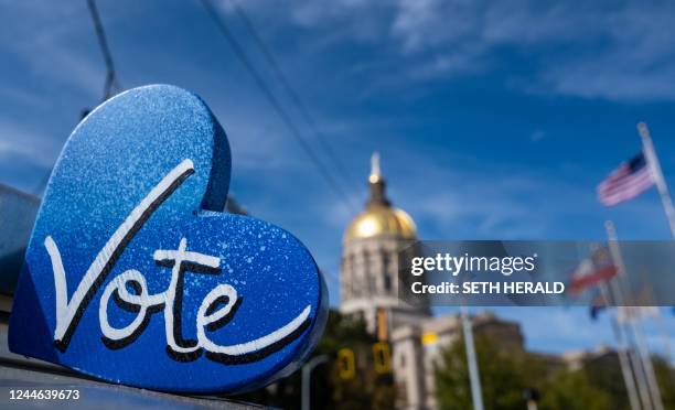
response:
M358 214L344 233L344 242L377 236L393 236L403 239L415 239L417 227L405 211L392 206L385 195L385 181L379 173L379 154L371 158L371 197L366 208Z

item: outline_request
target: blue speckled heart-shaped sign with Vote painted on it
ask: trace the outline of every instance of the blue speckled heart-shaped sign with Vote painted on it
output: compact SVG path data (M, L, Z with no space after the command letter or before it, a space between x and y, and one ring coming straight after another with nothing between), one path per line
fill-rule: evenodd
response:
M225 131L173 86L126 91L68 139L14 295L9 346L130 386L235 392L293 371L328 292L289 233L219 213Z

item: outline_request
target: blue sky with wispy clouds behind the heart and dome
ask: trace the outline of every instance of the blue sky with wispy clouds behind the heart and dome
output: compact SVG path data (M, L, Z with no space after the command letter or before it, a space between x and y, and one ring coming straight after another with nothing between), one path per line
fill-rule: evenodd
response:
M216 3L303 127L232 2ZM640 150L641 120L675 183L672 2L242 4L347 169L331 166L346 196L321 179L200 2L100 0L99 10L120 83L175 84L206 100L231 140L233 192L308 245L333 303L373 151L425 239L599 239L608 218L624 239L671 238L655 192L608 209L594 187ZM30 192L100 99L105 68L84 0L2 2L0 15L0 182ZM497 313L521 321L536 349L611 342L586 309Z

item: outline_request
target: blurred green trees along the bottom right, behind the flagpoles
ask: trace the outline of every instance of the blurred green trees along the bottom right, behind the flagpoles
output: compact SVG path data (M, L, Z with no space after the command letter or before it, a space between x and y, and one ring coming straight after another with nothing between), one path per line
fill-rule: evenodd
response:
M551 366L540 356L504 348L497 341L476 336L475 349L485 409L524 409L523 392L539 392L540 410L630 409L621 368L614 354L583 363L578 370ZM665 409L675 410L675 374L654 358ZM436 397L441 409L471 409L471 389L463 337L441 350L436 367Z

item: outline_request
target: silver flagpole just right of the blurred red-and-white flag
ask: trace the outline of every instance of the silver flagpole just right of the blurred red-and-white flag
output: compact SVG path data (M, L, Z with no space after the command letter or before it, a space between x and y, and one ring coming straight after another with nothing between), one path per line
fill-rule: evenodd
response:
M623 295L623 291L621 289L622 287L620 283L623 283L624 285L628 284L628 274L625 271L625 265L623 263L623 258L621 256L621 250L619 249L619 242L617 239L617 230L614 229L614 224L611 220L607 220L604 223L604 228L607 230L608 245L610 248L612 260L617 265L617 268L618 268L617 279L620 280L619 283L612 283L615 285L613 287L613 289L614 289L614 295L618 298L617 304L625 309L628 308L628 304L625 303L626 299ZM626 292L630 292L629 288L628 287L625 288L626 288ZM632 300L629 302L633 303ZM632 331L632 336L633 336L633 342L635 344L635 347L638 348L638 355L640 357L640 362L642 365L641 367L643 370L642 374L643 374L643 377L645 377L646 386L649 388L649 396L651 398L653 408L656 410L663 410L663 401L661 398L661 390L658 388L658 381L656 380L656 375L654 374L654 367L652 365L652 358L650 357L649 349L646 348L646 345L644 343L644 337L642 335L642 332L638 327L635 322L633 321L633 317L629 317L628 324Z

